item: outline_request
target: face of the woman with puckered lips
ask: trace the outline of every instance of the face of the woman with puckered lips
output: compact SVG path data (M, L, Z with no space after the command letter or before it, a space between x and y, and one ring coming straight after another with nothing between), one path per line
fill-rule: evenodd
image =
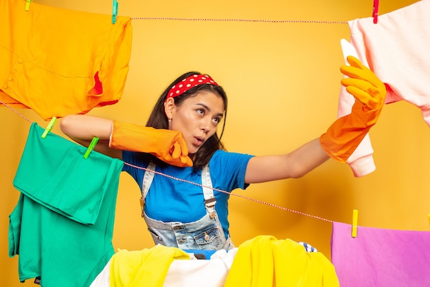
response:
M216 133L223 112L223 98L213 92L201 91L180 106L173 106L169 128L182 132L188 152L194 154Z

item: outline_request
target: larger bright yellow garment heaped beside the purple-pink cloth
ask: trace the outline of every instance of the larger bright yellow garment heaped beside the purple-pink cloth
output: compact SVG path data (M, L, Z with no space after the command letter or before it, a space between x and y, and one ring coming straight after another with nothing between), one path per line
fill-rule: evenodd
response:
M322 253L293 240L260 235L240 244L225 287L339 287L335 267Z

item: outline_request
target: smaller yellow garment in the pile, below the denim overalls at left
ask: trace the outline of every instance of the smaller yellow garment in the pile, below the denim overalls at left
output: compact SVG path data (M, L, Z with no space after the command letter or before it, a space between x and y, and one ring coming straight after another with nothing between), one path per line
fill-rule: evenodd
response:
M162 287L174 259L190 259L190 255L162 245L142 251L122 249L111 259L111 287Z

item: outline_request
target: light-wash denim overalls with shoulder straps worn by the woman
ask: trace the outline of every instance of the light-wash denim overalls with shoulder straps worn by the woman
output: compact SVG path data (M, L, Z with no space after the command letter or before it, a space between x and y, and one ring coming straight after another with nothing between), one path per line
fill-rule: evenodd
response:
M154 178L156 165L150 162L145 172L142 184L142 217L146 221L148 230L155 244L177 247L182 250L230 250L234 248L231 238L225 238L223 227L215 211L216 199L212 189L209 167L202 170L202 185L206 215L200 220L190 223L162 222L153 220L144 212L145 198ZM156 191L155 191L156 192Z

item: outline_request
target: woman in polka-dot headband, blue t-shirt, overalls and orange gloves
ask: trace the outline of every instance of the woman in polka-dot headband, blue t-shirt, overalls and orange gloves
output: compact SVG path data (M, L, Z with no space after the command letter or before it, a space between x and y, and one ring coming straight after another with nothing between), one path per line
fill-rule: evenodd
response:
M348 57L342 85L355 96L352 113L320 138L277 156L223 149L220 137L227 96L210 76L189 72L161 94L146 127L105 118L70 115L61 129L95 150L121 158L142 190L142 217L156 244L181 249L229 250L229 192L251 183L299 178L332 157L345 162L376 123L385 86L359 60ZM225 120L224 120L225 124ZM276 168L273 168L276 167ZM154 172L155 171L155 172Z

